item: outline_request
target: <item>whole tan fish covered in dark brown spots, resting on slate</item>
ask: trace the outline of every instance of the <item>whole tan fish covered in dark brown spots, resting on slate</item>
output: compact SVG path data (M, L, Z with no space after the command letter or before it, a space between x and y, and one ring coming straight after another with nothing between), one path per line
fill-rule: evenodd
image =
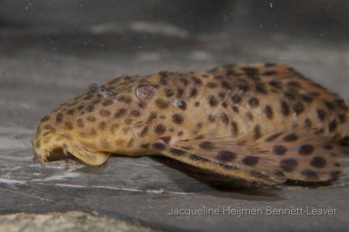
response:
M91 165L112 153L165 155L274 185L327 181L348 155L348 102L285 65L159 72L91 86L36 128L36 156L62 149Z

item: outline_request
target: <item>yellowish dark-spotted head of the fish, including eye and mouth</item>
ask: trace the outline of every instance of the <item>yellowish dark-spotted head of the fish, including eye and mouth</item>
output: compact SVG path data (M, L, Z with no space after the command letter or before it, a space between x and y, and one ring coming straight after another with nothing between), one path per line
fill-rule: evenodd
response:
M171 124L168 115L181 104L176 100L166 96L159 75L119 77L103 86L93 84L89 92L68 100L40 120L32 140L36 157L45 162L61 150L61 154L70 153L87 164L98 165L112 153L151 153L149 144L165 136Z

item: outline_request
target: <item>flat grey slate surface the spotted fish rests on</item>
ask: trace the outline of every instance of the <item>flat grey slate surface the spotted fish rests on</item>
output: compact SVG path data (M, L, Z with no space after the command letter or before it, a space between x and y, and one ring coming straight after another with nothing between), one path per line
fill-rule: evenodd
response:
M348 160L341 160L345 173L334 185L274 188L218 181L161 157L114 156L97 168L73 160L34 162L31 134L40 118L92 82L103 84L120 75L207 70L237 62L288 63L349 98L348 44L312 39L299 44L283 35L258 42L225 33L182 35L155 35L147 42L130 30L107 39L89 31L1 31L0 213L75 210L172 231L348 231ZM172 207L211 208L218 215L170 215ZM251 213L230 215L229 207ZM269 207L336 213L267 215Z

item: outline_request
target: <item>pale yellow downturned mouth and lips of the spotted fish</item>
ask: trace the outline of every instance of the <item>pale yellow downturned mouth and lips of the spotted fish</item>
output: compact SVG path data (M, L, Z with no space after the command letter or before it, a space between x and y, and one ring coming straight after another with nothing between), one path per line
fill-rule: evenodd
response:
M36 160L42 164L73 155L89 165L97 166L106 162L111 155L107 152L92 151L82 146L79 141L75 141L69 134L47 133L41 136L36 134L34 133L32 143Z

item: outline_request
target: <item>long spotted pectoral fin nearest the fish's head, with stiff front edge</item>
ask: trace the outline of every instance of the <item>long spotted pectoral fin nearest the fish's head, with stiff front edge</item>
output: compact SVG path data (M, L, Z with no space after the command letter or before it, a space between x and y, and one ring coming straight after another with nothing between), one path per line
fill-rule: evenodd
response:
M218 144L205 139L166 144L159 139L151 146L165 156L224 176L265 185L286 180L273 155L251 145Z

